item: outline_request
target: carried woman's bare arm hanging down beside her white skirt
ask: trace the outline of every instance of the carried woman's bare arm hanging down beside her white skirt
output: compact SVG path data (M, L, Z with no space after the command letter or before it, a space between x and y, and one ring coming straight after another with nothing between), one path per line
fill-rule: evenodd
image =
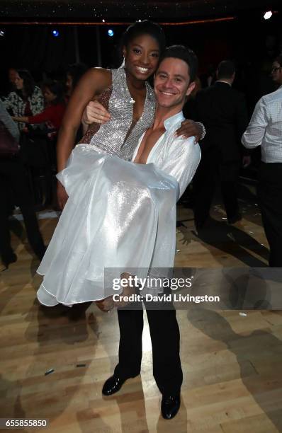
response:
M111 84L111 71L90 69L82 76L67 105L57 141L57 168L62 171L74 148L77 129L87 103ZM67 202L67 193L60 182L57 186L58 203L61 208Z

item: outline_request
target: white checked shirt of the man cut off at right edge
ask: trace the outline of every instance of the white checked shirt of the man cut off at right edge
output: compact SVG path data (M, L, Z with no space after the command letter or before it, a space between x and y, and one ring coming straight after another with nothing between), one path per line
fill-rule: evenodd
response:
M261 146L261 161L282 162L282 86L263 96L242 137L247 149Z

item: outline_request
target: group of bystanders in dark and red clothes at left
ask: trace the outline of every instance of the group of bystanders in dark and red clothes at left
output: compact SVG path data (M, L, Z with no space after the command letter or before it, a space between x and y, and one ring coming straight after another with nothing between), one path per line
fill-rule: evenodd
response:
M6 267L17 259L9 230L15 205L23 215L30 246L39 260L43 258L46 248L35 205L52 201L57 133L67 100L85 71L84 64L73 64L65 83L47 79L40 86L26 69L8 71L9 91L0 100L0 253Z

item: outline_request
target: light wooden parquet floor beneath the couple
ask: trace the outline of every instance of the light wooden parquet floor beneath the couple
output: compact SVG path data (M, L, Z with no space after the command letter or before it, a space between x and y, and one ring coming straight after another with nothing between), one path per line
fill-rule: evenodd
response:
M177 233L176 266L265 266L267 243L255 199L241 204L244 219L232 228L215 204L213 228L201 238L191 210L179 208L185 226ZM46 242L56 223L40 220ZM147 323L141 376L103 398L103 382L117 362L116 313L94 305L81 316L62 308L44 311L35 301L38 261L26 241L13 236L13 247L18 262L1 272L0 284L0 417L47 418L50 432L282 432L280 311L178 311L182 404L166 421L159 416ZM45 376L48 369L54 372Z

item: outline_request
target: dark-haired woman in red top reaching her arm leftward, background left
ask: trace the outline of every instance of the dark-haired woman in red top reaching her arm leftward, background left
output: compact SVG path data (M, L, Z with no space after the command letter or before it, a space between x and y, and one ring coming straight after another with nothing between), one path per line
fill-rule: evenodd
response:
M62 118L66 110L62 83L52 80L45 81L43 95L46 104L43 112L33 116L13 116L13 120L32 124L45 123L47 135L53 139L62 125Z

